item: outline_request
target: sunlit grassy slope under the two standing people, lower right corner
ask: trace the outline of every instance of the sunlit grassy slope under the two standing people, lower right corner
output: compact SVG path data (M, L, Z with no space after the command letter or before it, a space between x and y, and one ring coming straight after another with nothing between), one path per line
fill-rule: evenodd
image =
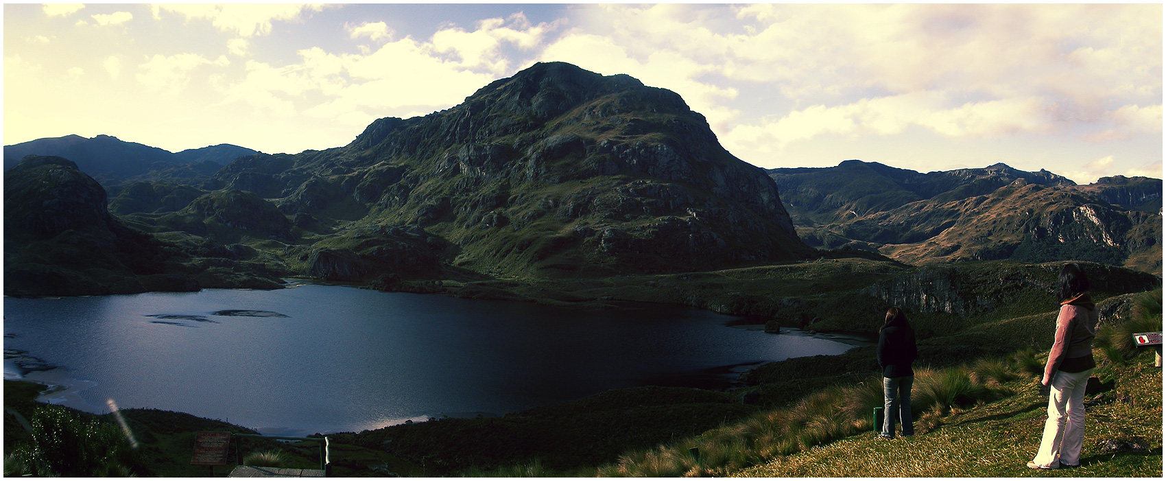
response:
M1100 355L1100 353L1097 353ZM1077 469L1025 467L1040 445L1048 397L1034 378L1005 384L1004 399L921 419L914 438L887 440L873 431L779 456L733 476L1145 476L1163 475L1161 369L1146 353L1096 375L1112 391L1086 406L1086 438ZM934 423L934 426L927 426Z

